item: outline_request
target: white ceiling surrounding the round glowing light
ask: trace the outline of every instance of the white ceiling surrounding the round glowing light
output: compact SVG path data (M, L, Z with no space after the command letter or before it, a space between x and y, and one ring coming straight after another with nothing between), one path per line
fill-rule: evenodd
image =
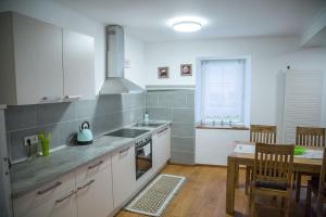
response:
M123 25L143 41L300 36L326 0L54 0L103 24ZM198 16L197 33L175 33L166 23Z

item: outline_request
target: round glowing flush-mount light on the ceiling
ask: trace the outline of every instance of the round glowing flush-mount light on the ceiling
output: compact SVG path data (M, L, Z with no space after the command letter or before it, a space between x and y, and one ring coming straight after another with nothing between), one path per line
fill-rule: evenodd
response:
M168 26L172 26L174 30L176 31L183 31L183 33L191 33L200 30L201 27L206 22L203 18L195 17L195 16L178 16L171 18L167 22Z

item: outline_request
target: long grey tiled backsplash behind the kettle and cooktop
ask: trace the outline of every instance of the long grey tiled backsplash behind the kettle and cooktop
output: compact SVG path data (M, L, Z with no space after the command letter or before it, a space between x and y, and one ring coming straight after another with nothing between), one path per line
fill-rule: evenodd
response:
M145 113L145 94L100 95L71 103L9 106L5 110L8 145L12 159L23 158L26 136L51 132L51 149L67 144L79 125L88 120L95 136L139 122Z

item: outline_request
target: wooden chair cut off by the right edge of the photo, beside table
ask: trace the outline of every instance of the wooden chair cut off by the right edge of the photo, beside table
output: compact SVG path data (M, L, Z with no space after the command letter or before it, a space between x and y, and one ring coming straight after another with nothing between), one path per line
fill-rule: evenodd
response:
M308 181L305 216L310 216L311 214L311 192L313 192L317 197L317 216L322 217L323 204L326 203L326 148L324 148L319 179L314 178Z

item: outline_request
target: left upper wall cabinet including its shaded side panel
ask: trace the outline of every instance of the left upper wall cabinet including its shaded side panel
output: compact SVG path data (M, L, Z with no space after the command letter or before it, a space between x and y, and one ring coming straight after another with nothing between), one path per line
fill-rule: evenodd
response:
M14 12L0 28L0 104L62 98L62 28Z

